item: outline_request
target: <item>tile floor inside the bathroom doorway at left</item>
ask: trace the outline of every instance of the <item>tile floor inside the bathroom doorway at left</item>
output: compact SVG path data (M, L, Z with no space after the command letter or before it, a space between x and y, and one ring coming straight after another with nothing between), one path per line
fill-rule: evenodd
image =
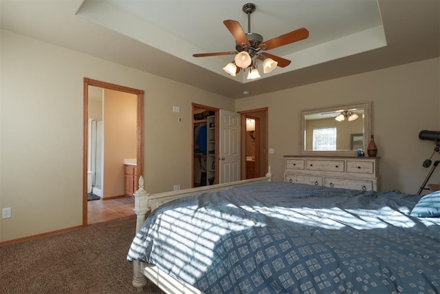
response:
M87 202L87 223L105 222L134 215L135 199L132 197Z

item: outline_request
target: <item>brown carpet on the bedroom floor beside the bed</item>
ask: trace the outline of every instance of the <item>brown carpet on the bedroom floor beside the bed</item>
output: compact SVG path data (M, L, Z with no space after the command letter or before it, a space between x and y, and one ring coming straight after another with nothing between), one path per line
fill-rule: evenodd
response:
M136 293L126 261L136 216L0 246L0 293ZM140 293L164 294L152 282Z

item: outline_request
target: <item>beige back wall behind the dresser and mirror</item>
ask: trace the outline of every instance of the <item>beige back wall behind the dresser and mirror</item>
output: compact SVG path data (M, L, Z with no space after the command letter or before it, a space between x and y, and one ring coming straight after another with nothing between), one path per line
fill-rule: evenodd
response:
M373 131L381 157L382 190L417 193L434 143L422 129L440 129L440 59L337 78L236 101L236 111L269 108L269 154L274 180L283 179L283 156L299 154L300 110L372 101ZM436 154L433 159L440 159ZM435 171L430 182L440 182Z

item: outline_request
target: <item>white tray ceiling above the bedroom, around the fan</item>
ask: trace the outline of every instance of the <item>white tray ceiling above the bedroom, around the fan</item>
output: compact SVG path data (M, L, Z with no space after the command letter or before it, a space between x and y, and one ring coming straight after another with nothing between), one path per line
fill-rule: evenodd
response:
M222 67L234 51L223 20L248 32L246 1L0 0L1 28L228 96L243 97L440 55L440 0L254 0L251 32L309 38L271 54L292 63L249 82ZM93 77L91 77L93 78Z

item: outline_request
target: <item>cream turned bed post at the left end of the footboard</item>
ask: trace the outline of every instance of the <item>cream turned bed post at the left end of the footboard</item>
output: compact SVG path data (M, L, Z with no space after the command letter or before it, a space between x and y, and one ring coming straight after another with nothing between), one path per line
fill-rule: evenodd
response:
M136 213L136 233L139 231L140 227L145 221L146 212L148 211L148 196L150 194L146 193L144 190L144 177L139 178L139 189L133 193L135 197L135 208L133 209ZM137 292L142 291L142 288L146 285L146 277L142 275L142 264L139 260L133 261L133 286L137 288Z

